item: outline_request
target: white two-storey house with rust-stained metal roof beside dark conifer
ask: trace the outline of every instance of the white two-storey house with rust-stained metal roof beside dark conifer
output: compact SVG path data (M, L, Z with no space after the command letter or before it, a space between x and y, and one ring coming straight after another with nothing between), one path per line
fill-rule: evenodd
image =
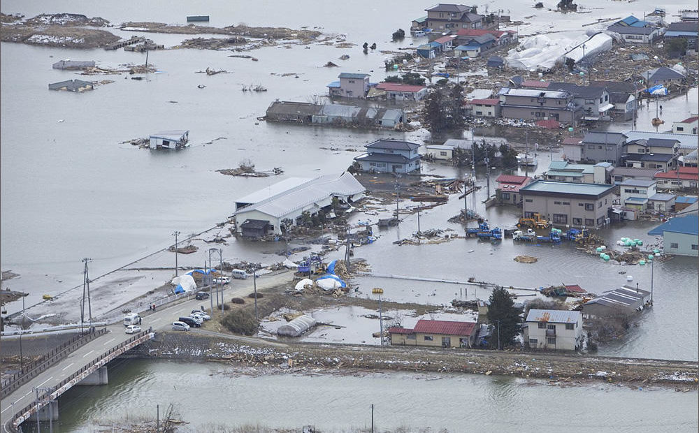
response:
M582 313L555 309L530 309L522 326L530 348L575 351L582 344Z

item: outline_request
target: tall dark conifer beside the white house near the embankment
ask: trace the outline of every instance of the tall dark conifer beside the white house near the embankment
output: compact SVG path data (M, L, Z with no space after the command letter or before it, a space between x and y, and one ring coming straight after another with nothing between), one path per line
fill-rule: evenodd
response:
M500 336L500 348L512 346L514 337L521 331L521 308L514 307L514 301L503 287L493 289L488 306L488 321L495 326L493 336L489 339L491 348L498 347L498 335ZM498 334L499 333L499 334Z

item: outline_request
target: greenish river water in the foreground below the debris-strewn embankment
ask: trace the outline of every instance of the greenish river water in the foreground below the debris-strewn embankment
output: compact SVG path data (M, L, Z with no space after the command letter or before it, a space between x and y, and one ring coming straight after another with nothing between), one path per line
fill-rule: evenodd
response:
M561 387L471 374L278 373L249 376L212 363L116 360L109 365L108 385L74 387L59 398L61 419L54 431L108 431L119 420L154 419L157 405L162 416L171 403L189 422L185 432L208 432L215 425L315 425L340 432L369 427L370 404L378 431L503 432L517 425L524 432L661 433L699 427L696 391L606 383Z

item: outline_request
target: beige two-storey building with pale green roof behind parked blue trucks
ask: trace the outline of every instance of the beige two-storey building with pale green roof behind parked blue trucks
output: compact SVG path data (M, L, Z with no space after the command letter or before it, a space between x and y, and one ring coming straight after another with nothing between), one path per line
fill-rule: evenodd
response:
M559 226L599 228L614 203L614 185L536 180L519 189L525 218L542 214Z

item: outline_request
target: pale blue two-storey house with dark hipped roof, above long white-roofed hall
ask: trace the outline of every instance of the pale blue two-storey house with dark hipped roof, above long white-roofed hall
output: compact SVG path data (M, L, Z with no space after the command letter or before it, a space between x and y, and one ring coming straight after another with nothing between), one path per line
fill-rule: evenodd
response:
M420 170L420 145L403 140L376 140L366 145L366 154L354 158L363 171L411 173Z

